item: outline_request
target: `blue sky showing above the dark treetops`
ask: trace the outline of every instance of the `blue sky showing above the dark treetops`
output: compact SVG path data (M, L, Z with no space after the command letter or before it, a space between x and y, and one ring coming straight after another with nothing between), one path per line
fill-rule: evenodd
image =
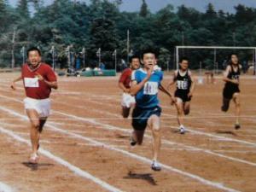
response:
M90 0L80 1L90 2ZM18 0L9 0L9 3L14 6L17 2ZM53 0L44 0L44 2L45 4L50 4ZM146 0L146 2L148 3L148 8L152 12L156 12L166 7L168 3L171 3L174 7L184 4L186 7L195 8L201 12L205 12L208 3L212 3L216 10L223 9L225 12L230 13L234 13L234 6L239 3L256 9L256 0ZM120 9L123 11L138 11L141 4L142 0L123 0L123 4L120 6Z

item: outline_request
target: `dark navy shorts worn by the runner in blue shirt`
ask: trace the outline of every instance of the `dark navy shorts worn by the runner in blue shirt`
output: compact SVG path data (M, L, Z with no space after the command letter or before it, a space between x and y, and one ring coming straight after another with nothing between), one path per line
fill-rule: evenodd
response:
M132 111L132 127L137 131L144 131L148 125L148 119L153 114L160 117L162 109L159 106L154 108L134 108Z

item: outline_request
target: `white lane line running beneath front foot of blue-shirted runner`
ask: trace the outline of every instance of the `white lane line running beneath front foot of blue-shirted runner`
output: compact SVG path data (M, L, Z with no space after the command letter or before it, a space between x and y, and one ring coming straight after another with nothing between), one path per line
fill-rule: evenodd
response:
M25 115L21 115L20 113L16 113L16 112L14 112L12 110L9 110L8 112L9 113L13 113L16 116L19 116L22 119L27 119L27 117ZM145 157L137 155L137 154L132 154L132 153L130 153L128 151L125 151L123 149L120 149L120 148L113 148L113 147L109 146L108 144L97 142L96 140L91 139L90 137L83 137L83 136L75 134L73 132L62 130L61 128L56 127L53 123L48 123L46 126L50 127L51 130L54 130L54 131L57 131L57 132L61 132L62 134L66 134L68 136L77 137L77 138L79 138L81 140L84 140L86 142L94 143L96 145L99 145L99 146L102 146L104 148L107 148L108 150L113 150L113 151L119 152L121 154L125 154L126 156L129 156L129 157L131 157L133 159L136 159L136 160L141 160L141 161L143 161L143 162L145 162L145 163L147 163L149 165L152 163L152 160L149 160L148 158L145 158ZM44 155L46 155L46 154L44 154ZM229 187L225 187L223 183L212 182L210 180L207 180L206 178L197 176L197 175L189 173L189 172L183 172L183 171L181 171L181 170L179 170L179 169L177 169L175 167L172 167L172 166L167 166L165 164L160 164L160 165L162 167L164 167L168 171L176 172L176 173L178 173L180 175L183 175L183 176L186 176L186 177L190 177L192 179L195 179L195 180L199 181L200 183L212 186L214 188L223 189L225 191L230 191L230 192L238 192L238 190L236 190L236 189L231 189Z

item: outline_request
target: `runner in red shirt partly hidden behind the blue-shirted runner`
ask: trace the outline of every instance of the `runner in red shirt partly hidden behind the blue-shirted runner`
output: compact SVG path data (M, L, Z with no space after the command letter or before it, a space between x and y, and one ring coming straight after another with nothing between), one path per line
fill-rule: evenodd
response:
M121 74L119 79L119 88L124 91L122 96L122 115L124 118L128 118L130 108L135 105L134 96L130 95L131 88L131 73L140 67L140 58L138 56L132 56L130 58L130 68L126 68Z

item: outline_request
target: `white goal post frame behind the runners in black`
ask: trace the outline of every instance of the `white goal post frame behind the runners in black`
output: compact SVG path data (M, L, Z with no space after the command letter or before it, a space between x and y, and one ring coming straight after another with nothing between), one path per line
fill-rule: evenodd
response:
M212 49L214 51L213 63L216 64L216 55L218 49L247 49L253 50L253 74L256 74L256 47L230 47L230 46L176 46L176 68L178 68L178 61L180 57L180 49Z

